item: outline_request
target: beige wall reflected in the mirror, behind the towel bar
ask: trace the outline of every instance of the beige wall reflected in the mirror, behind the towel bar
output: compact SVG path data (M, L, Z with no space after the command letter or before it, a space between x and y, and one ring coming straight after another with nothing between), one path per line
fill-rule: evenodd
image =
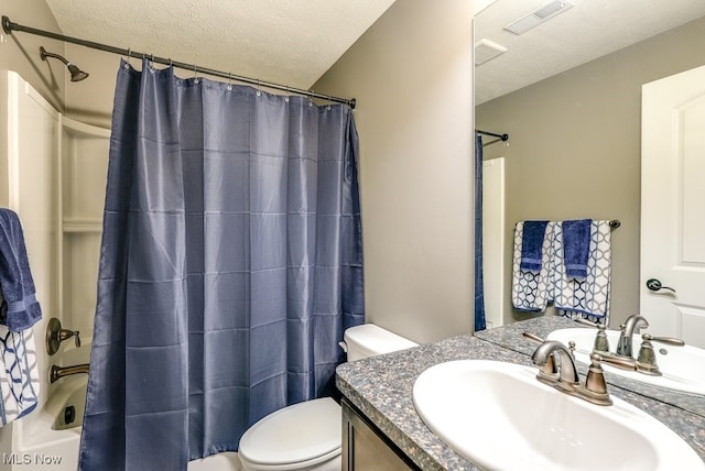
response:
M507 157L508 287L517 221L619 219L610 326L639 311L641 85L705 64L702 51L705 18L477 107L478 129L510 135L485 147Z

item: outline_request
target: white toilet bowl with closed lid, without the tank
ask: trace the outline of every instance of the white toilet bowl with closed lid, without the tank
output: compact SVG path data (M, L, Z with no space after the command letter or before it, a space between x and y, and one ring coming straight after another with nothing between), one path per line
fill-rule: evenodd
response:
M330 397L279 409L250 427L239 456L260 469L313 465L340 454L340 406Z

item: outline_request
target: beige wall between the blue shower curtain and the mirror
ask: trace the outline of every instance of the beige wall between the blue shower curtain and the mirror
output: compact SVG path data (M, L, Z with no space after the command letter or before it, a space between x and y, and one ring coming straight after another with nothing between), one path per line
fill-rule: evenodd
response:
M473 329L473 2L399 0L313 87L356 97L368 321Z

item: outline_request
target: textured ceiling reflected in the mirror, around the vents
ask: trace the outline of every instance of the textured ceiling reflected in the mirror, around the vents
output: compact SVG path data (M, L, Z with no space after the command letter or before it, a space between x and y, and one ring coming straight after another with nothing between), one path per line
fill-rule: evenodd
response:
M488 39L508 48L476 68L476 105L705 14L704 0L570 0L573 8L522 35L503 31L546 1L497 0L476 17L476 41Z

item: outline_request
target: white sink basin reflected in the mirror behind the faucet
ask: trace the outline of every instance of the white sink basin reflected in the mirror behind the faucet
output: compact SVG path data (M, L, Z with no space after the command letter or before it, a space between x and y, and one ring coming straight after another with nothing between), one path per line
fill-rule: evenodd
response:
M575 342L575 360L589 364L589 354L595 343L596 329L561 329L549 333L549 340L558 340L564 344ZM618 330L607 330L607 340L611 352L619 341ZM673 347L658 342L653 343L657 354L657 363L661 370L661 376L651 376L637 371L619 370L608 363L603 363L603 369L609 373L639 381L653 386L668 387L693 394L705 394L705 350L696 347ZM634 357L639 353L641 336L633 336L632 348Z

